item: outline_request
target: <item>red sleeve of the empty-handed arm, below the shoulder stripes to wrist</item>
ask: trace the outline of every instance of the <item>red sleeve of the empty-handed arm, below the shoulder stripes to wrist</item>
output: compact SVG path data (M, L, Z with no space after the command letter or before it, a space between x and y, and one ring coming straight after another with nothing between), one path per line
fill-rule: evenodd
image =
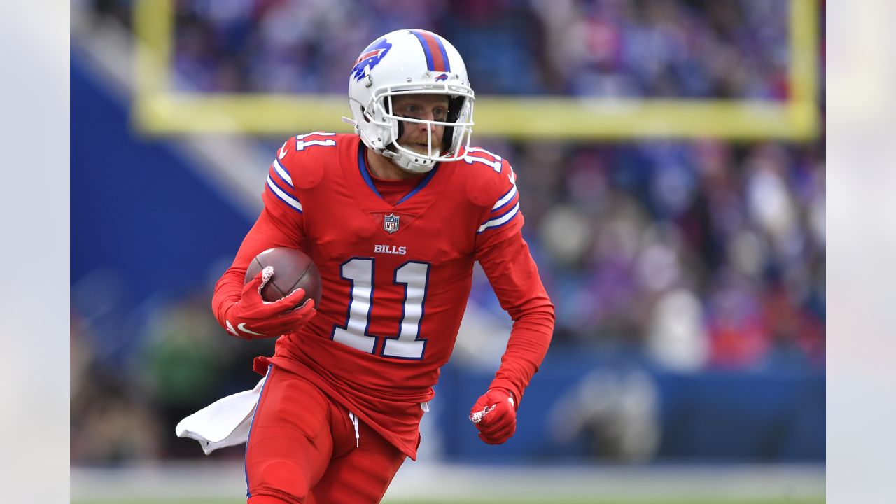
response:
M516 219L522 221L522 216ZM554 305L547 297L538 266L520 230L488 247L478 248L476 258L501 307L513 318L510 340L490 388L509 390L519 407L523 391L538 371L551 343Z

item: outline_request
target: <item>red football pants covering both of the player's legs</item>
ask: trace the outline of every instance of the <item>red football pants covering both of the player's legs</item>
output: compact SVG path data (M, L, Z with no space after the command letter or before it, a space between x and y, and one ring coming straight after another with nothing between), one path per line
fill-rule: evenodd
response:
M404 454L349 410L271 366L246 443L249 504L379 502Z

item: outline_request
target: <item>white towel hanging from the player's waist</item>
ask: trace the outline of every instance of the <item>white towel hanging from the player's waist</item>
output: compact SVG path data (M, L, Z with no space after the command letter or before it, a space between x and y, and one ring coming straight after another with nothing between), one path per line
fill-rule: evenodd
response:
M196 439L205 455L218 448L245 443L265 379L252 390L228 395L177 422L177 437Z

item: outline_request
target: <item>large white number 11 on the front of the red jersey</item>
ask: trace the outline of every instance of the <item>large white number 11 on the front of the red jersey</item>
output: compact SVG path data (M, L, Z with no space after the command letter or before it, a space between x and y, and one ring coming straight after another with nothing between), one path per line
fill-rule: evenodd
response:
M426 300L426 283L429 265L408 262L395 270L393 282L404 285L404 306L398 336L376 336L367 333L370 326L370 308L374 296L374 259L353 257L342 263L342 278L351 282L349 320L345 326L333 326L332 340L349 345L361 352L374 353L376 340L385 338L380 355L393 359L423 359L426 340L418 339L420 321L423 319L423 303Z

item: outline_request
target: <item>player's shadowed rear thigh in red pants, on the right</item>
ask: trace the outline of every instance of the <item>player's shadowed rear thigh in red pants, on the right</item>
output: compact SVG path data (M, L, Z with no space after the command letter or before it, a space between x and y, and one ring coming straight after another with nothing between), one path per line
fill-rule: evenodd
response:
M379 502L398 473L405 455L364 423L358 448L334 456L311 493L317 502L368 504Z

